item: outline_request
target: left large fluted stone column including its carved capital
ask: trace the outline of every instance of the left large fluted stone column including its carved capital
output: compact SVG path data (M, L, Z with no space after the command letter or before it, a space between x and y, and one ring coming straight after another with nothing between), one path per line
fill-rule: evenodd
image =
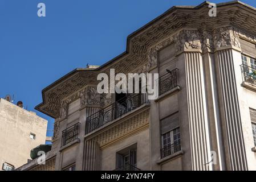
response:
M176 48L178 54L183 52L185 54L185 86L192 169L212 170L212 165L207 165L211 160L211 147L201 32L198 30L180 31L176 37Z

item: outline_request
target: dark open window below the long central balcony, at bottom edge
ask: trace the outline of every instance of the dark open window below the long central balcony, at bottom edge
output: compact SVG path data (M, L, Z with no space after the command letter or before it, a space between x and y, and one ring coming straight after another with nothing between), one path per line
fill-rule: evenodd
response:
M116 153L117 171L138 171L137 168L137 144L125 148Z

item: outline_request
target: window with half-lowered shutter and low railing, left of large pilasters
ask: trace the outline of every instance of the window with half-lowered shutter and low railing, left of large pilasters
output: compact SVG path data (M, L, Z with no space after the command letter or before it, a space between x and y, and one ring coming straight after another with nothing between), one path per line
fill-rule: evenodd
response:
M181 150L179 113L161 119L161 158Z

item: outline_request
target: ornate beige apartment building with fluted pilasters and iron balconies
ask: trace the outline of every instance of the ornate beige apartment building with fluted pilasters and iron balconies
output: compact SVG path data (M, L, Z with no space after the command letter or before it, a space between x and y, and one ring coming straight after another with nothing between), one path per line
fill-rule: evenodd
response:
M174 6L127 51L43 89L55 118L46 165L22 170L256 170L256 9ZM114 48L114 47L113 47ZM99 94L97 75L159 73L159 98Z

